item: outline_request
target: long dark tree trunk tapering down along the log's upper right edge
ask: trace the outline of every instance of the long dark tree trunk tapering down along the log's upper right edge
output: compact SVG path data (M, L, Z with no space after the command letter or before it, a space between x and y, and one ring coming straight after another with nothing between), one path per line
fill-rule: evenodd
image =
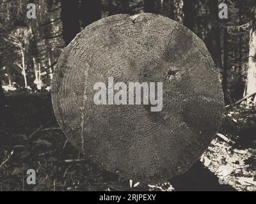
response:
M222 69L218 0L206 0L206 45L217 68Z

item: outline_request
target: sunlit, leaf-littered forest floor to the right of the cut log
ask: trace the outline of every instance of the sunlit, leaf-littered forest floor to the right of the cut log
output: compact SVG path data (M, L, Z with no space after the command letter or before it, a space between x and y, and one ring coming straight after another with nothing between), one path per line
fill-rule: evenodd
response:
M230 109L220 131L230 141L216 138L200 161L220 178L220 184L256 191L256 106Z

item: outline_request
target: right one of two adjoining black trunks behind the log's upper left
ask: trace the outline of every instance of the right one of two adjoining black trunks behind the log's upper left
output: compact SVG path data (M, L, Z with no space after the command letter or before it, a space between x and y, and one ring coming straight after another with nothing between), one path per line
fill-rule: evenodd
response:
M100 0L82 0L81 17L83 27L92 24L101 18L101 1Z

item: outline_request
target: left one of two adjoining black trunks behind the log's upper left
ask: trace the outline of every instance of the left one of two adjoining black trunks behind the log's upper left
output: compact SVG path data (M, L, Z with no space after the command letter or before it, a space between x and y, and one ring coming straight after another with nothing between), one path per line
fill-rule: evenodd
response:
M63 39L68 45L76 34L81 31L79 24L79 0L61 0L61 21L63 24Z

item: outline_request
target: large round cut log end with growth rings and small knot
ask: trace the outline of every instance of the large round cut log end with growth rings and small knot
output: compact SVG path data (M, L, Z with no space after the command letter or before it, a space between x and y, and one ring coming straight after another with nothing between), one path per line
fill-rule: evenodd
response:
M173 74L175 73L175 74ZM93 86L163 82L163 110L95 105ZM170 18L114 15L88 25L63 50L52 82L68 140L102 168L157 183L187 171L216 135L223 93L211 55Z

